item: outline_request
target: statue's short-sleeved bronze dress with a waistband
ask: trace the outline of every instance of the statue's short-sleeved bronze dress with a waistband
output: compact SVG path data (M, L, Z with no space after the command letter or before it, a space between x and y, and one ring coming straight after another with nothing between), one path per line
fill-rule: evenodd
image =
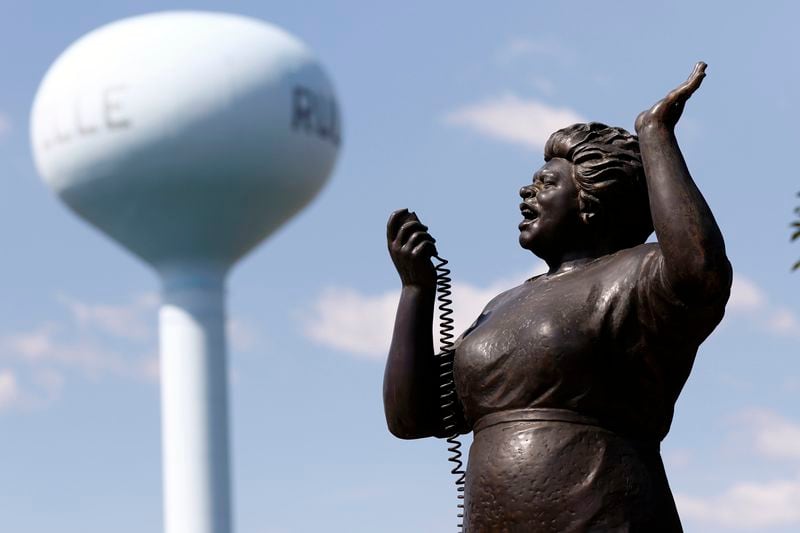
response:
M689 307L657 244L537 276L456 347L467 533L679 532L659 443L728 294Z

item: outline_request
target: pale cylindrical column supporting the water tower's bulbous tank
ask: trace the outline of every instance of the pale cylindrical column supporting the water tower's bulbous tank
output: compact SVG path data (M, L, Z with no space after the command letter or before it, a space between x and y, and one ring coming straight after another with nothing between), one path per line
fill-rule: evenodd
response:
M222 277L165 283L159 327L166 533L231 533L224 297Z

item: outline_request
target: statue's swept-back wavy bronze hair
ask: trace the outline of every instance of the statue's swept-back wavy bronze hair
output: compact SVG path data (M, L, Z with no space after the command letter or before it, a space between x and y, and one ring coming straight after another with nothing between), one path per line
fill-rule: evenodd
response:
M653 220L635 135L599 122L573 124L547 140L544 160L554 157L575 165L585 222L598 228L616 249L647 240Z

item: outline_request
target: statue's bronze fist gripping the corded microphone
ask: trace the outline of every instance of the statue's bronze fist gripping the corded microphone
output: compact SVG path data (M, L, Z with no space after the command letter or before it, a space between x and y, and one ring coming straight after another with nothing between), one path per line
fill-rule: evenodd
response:
M436 270L431 263L431 257L436 255L436 239L416 213L408 209L392 213L386 225L386 240L404 287L436 287Z

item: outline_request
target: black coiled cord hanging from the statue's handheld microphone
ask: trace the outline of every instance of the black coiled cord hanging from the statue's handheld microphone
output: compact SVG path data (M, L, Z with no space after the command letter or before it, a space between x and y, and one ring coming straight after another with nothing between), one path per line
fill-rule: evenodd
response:
M453 350L453 330L455 328L451 316L453 314L453 300L450 299L453 294L452 279L450 279L450 269L447 268L447 260L438 255L434 255L433 258L438 261L434 268L436 269L436 300L439 308L439 344L441 348L441 352L437 355L439 361L439 407L448 444L447 450L450 452L450 457L447 460L453 464L453 469L450 473L456 476L458 529L463 531L466 472L464 471L464 463L461 460L461 441L458 440L460 408L453 375L455 355Z

